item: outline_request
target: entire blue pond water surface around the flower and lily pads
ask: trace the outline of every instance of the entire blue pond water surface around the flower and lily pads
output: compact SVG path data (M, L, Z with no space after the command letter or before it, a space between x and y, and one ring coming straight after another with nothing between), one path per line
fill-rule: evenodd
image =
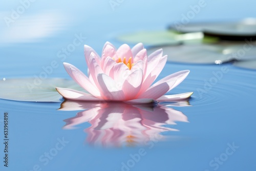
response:
M256 17L255 3L248 0L205 2L206 6L191 22ZM0 7L1 18L10 17L11 10L17 10L20 6L19 1L4 3ZM1 19L0 79L39 75L43 71L42 67L51 65L53 60L57 61L58 67L48 78L69 78L62 67L63 61L86 72L83 44L101 53L105 41L111 41L116 47L122 44L115 40L117 34L164 29L174 21L179 21L181 14L190 10L190 5L197 4L198 1L122 1L113 10L109 1L61 4L35 1L9 27ZM75 46L73 52L65 54L62 49L73 44L76 36L83 37L80 44ZM255 71L240 69L230 63L167 63L158 79L187 69L190 74L172 93L193 91L193 96L185 102L186 106L173 104L166 107L178 111L183 121L165 127L179 131L155 133L153 135L156 137L152 140L143 139L145 134L141 134L137 137L141 140L136 142L132 141L135 139L132 136L126 137L129 141L121 141L129 143L122 143L119 147L90 141L93 132L100 131L99 127L96 131L90 129L94 122L82 122L75 126L76 129L63 129L67 119L85 109L61 111L57 110L60 103L0 99L2 160L4 113L7 112L9 116L9 164L5 167L1 161L0 169L255 170ZM127 111L132 108L130 106ZM149 111L145 113L150 114L142 115L136 110L133 116L126 113L125 117L150 121L159 119L160 123L166 120L164 113L154 118L150 112L152 108L146 109ZM115 109L115 112L118 110ZM136 129L139 130L137 125L134 126L133 134Z

